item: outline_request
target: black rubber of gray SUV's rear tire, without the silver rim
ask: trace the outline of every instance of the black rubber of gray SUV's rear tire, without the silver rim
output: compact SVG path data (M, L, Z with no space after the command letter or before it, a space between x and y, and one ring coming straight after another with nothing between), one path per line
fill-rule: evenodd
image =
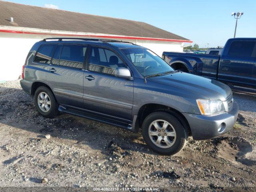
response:
M43 112L39 106L38 106L38 102L37 102L37 98L38 98L38 94L40 94L41 92L45 92L46 94L48 94L48 96L50 97L50 101L51 101L51 106L50 106L50 110L48 112ZM54 95L52 94L51 90L48 89L45 86L41 86L38 87L36 89L36 92L34 94L34 104L36 106L36 109L38 110L38 112L45 117L54 117L57 114L57 109L58 109L58 104L56 102L56 99L54 97Z

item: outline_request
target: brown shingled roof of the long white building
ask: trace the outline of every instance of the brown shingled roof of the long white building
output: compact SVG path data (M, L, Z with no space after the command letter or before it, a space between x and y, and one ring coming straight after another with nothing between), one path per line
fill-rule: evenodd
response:
M14 18L14 22L10 22L10 17ZM142 38L143 31L143 37L149 38L149 40L159 38L180 40L181 42L190 41L144 22L5 1L0 1L0 26L133 36L140 37L140 39Z

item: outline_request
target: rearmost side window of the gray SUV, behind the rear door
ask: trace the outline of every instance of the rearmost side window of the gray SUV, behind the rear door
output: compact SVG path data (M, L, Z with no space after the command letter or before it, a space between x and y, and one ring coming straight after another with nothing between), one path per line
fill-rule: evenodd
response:
M56 44L43 44L36 53L34 62L50 64L52 54L56 48Z

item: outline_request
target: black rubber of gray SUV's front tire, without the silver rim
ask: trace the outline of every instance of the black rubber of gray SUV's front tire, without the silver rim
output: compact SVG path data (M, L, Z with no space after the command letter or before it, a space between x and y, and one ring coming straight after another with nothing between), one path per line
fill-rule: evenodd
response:
M149 126L154 120L158 120L158 119L166 120L175 129L176 141L170 148L160 148L156 146L150 139L150 136L148 134ZM148 146L154 152L157 152L159 154L165 154L165 155L172 155L179 152L186 144L186 140L188 138L186 130L184 129L182 124L179 122L179 120L175 116L166 112L154 112L152 114L149 114L143 121L142 135L143 135L144 141L148 144Z

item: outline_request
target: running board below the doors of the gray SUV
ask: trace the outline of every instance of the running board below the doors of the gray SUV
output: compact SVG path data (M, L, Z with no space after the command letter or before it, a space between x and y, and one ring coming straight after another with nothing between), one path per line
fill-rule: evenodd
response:
M86 118L86 119L90 119L90 120L110 124L110 125L113 125L113 126L117 126L117 127L120 127L120 128L124 128L124 129L130 130L130 131L133 131L131 124L127 124L127 123L120 122L120 121L117 121L117 120L112 120L110 118L97 116L97 115L94 115L94 114L89 114L89 113L74 110L74 109L68 109L68 108L65 108L63 106L59 106L58 110L60 112L63 112L63 113L72 114L72 115L75 115L75 116L83 117L83 118Z

